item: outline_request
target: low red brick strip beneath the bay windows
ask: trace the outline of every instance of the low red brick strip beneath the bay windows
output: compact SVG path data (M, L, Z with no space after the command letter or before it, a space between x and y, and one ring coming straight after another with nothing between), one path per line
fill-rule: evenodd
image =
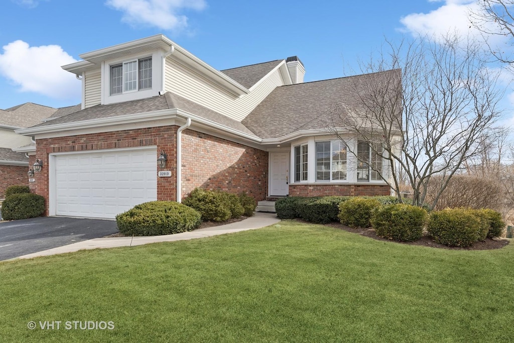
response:
M364 196L391 195L388 185L289 185L291 196Z

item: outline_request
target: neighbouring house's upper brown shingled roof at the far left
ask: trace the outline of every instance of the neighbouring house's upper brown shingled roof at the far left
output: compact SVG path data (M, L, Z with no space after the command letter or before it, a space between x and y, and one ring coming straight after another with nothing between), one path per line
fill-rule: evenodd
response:
M53 107L26 102L0 111L0 125L9 125L16 128L28 128L50 117L57 110Z

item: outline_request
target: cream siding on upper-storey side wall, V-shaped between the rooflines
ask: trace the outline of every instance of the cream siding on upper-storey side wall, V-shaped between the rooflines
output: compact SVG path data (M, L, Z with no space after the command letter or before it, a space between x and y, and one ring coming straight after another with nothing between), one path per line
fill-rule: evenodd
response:
M194 101L227 117L243 120L271 91L284 84L277 69L249 94L235 97L170 57L166 59L164 90Z

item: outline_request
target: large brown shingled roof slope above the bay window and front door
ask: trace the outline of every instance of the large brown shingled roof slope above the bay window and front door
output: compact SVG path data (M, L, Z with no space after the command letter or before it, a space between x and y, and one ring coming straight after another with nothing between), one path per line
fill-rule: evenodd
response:
M399 73L399 69L383 73ZM357 92L378 82L380 73L286 85L275 88L242 123L259 137L280 138L301 130L322 130L341 109L364 112ZM347 112L346 112L347 113Z

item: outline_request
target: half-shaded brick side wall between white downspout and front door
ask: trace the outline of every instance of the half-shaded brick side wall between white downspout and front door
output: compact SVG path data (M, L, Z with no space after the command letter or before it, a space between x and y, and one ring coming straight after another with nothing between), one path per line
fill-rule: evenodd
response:
M268 153L192 130L182 132L182 196L195 187L245 191L256 201L268 193Z

